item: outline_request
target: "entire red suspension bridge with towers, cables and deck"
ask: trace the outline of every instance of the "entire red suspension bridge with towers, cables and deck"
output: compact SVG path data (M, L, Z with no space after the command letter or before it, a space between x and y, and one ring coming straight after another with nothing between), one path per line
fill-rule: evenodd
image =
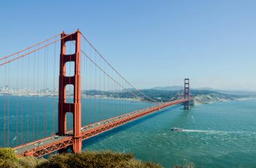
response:
M77 153L82 140L192 100L189 79L168 101L147 96L79 30L1 57L0 75L0 145L20 156Z

